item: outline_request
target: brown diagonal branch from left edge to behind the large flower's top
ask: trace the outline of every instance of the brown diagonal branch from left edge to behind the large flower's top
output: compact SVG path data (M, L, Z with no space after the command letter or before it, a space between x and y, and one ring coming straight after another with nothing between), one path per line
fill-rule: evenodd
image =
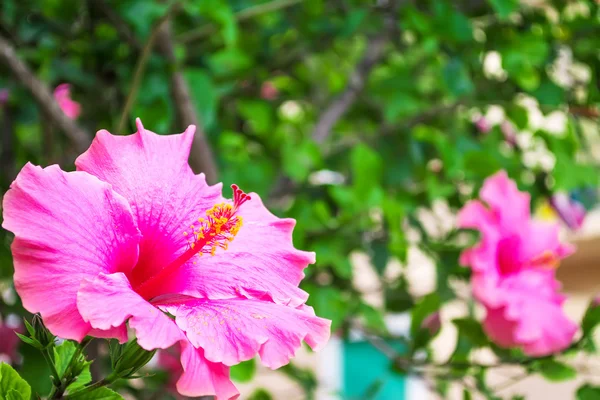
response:
M77 151L87 150L90 145L90 135L65 115L54 100L48 86L31 72L29 67L17 56L11 44L1 35L0 62L4 63L19 82L29 90L42 112L73 142Z

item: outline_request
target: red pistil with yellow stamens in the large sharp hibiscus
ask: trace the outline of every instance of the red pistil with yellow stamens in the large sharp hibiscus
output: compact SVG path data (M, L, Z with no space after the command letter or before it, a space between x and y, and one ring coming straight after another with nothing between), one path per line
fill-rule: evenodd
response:
M206 212L206 218L199 218L198 225L190 226L191 232L184 232L184 235L190 237L190 247L157 274L134 286L133 290L143 298L151 299L160 294L164 280L196 254L214 256L217 248L227 250L242 227L242 217L237 215L237 211L243 203L250 200L250 196L237 185L231 185L231 188L233 205L215 204Z

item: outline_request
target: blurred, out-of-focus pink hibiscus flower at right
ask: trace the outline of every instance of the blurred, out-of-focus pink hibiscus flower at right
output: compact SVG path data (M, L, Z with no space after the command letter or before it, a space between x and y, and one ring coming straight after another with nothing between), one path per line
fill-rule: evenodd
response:
M473 270L475 297L485 306L484 329L500 346L543 356L569 346L577 326L562 310L555 268L572 252L558 227L531 219L529 194L519 192L504 171L486 179L486 203L467 203L459 226L481 232L480 243L461 254Z

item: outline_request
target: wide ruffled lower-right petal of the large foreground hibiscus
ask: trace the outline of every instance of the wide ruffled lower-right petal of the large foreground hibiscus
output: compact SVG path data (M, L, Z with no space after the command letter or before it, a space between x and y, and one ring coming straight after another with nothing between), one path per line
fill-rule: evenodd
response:
M235 365L258 353L263 364L273 369L287 364L302 340L314 350L321 348L331 325L310 307L295 309L248 299L189 300L174 314L190 342L202 347L210 361Z

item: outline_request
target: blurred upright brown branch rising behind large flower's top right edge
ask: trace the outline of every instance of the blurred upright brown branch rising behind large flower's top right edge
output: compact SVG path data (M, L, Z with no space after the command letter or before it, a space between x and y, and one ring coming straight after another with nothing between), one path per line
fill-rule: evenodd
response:
M160 52L171 64L171 94L175 102L175 108L177 109L177 121L181 125L180 128L183 129L188 125L196 125L196 135L194 136L192 151L190 153L190 166L196 172L204 172L208 183L215 183L217 181L217 165L210 144L200 124L200 118L192 102L188 84L183 73L178 68L169 21L159 30L156 44Z

